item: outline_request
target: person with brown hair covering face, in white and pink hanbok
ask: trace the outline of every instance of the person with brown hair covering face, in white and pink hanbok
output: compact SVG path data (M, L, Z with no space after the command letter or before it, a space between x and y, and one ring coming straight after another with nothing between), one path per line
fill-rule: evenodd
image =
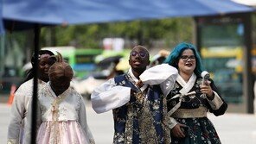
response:
M60 53L49 69L49 82L38 92L36 143L37 144L93 144L93 135L86 122L86 106L83 97L70 87L74 76ZM31 104L25 143L31 135Z

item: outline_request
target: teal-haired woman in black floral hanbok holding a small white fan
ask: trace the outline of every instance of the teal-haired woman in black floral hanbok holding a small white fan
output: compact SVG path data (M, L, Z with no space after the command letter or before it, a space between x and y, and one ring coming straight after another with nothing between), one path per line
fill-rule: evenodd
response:
M178 44L165 63L176 67L179 73L175 88L167 96L168 115L172 120L169 125L171 143L220 144L207 112L221 116L227 110L227 103L208 72L202 72L202 59L195 46L185 42Z

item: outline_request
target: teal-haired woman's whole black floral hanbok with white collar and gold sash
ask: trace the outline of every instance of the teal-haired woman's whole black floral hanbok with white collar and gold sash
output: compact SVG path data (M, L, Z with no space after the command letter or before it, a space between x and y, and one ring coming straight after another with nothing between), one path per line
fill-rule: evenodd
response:
M180 78L180 79L179 79ZM193 80L194 78L194 80ZM220 138L214 125L207 117L207 111L220 116L227 110L227 103L221 98L214 82L210 80L210 85L214 91L213 102L202 94L200 85L202 78L196 78L195 74L187 84L184 84L181 77L177 78L175 88L167 97L168 111L173 110L179 104L177 110L172 113L176 122L187 125L188 134L180 139L171 137L172 144L194 144L194 143L214 143L220 144ZM187 94L187 95L186 95ZM179 97L176 97L179 96ZM189 114L189 115L186 115Z

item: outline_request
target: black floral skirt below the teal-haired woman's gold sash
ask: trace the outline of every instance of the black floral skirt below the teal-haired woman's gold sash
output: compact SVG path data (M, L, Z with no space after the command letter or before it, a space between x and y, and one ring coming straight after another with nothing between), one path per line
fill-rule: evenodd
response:
M171 136L171 144L221 144L213 123L207 117L176 118L176 121L189 127L188 134L185 138Z

